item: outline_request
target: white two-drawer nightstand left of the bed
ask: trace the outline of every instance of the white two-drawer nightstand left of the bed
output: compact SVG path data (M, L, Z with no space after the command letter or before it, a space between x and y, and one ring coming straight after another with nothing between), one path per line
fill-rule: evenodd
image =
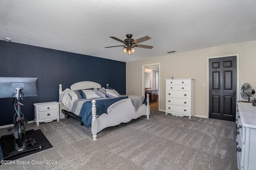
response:
M46 102L46 103L34 103L35 106L35 122L36 126L39 126L40 122L51 122L57 119L60 121L58 102Z

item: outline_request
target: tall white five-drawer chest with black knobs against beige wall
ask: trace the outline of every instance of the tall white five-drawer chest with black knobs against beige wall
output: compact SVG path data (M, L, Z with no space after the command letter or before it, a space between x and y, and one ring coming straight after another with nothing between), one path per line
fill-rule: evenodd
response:
M194 115L194 79L165 79L166 115Z

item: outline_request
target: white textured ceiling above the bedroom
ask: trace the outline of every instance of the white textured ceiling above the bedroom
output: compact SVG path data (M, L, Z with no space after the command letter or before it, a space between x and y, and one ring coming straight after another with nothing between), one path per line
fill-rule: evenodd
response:
M256 40L256 0L0 0L0 39L134 61ZM153 49L122 53L126 34ZM172 55L172 54L170 54Z

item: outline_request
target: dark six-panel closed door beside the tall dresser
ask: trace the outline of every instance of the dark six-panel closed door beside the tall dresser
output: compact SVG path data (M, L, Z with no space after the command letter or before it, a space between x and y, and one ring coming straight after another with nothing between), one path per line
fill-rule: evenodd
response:
M235 122L236 56L209 59L209 118Z

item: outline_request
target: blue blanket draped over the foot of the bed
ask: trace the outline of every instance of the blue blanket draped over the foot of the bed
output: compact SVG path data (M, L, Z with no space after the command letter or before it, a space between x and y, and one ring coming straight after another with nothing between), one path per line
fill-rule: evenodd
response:
M95 104L96 115L102 115L103 113L107 113L108 107L110 107L112 104L123 99L128 99L128 96L96 100L96 104ZM146 99L144 99L143 104L144 103L146 103ZM90 124L92 122L92 102L91 101L84 102L79 116L82 117L82 123L84 123L86 127L90 127Z

